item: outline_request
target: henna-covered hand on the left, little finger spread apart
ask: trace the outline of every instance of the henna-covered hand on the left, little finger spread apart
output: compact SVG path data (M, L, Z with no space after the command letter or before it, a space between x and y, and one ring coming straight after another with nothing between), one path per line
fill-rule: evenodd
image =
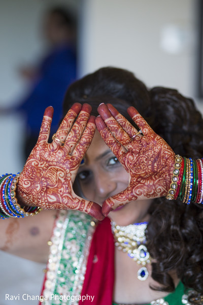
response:
M16 194L20 204L76 209L99 220L104 218L98 204L80 198L73 191L77 170L96 129L95 117L90 112L90 105L75 103L62 120L53 142L48 143L53 108L46 108L38 142L19 177Z

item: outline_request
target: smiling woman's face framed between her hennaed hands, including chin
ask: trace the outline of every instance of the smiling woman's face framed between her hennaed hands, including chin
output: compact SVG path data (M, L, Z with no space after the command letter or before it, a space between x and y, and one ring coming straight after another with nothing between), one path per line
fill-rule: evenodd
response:
M96 130L77 173L83 197L102 206L105 199L127 188L129 174ZM120 225L148 220L147 210L151 200L132 201L111 211L108 215Z

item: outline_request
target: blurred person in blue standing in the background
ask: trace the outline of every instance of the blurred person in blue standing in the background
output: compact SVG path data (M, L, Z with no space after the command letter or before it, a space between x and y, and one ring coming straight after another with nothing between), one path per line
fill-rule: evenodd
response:
M48 43L48 52L38 67L23 67L22 77L30 83L28 94L16 107L0 108L0 114L20 111L25 116L24 158L28 158L35 146L42 113L52 105L54 118L52 130L57 130L62 116L62 100L69 86L76 80L76 21L73 14L63 7L53 7L45 14L43 36Z

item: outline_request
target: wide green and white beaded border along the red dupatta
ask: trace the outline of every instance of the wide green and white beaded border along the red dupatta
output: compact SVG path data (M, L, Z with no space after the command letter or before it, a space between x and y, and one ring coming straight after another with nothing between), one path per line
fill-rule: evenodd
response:
M78 300L73 301L71 296L80 295L82 291L95 230L91 220L92 217L80 211L59 212L53 235L48 242L50 254L42 305L78 304ZM61 295L70 296L69 300L60 300Z

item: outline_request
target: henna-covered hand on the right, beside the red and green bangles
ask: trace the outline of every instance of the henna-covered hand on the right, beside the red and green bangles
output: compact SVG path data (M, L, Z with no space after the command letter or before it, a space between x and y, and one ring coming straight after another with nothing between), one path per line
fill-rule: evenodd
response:
M102 207L105 216L112 209L133 200L166 196L175 164L172 148L150 128L134 107L129 107L127 112L143 135L136 135L138 130L111 104L107 106L99 105L100 116L96 117L96 127L129 173L129 185L105 200Z

